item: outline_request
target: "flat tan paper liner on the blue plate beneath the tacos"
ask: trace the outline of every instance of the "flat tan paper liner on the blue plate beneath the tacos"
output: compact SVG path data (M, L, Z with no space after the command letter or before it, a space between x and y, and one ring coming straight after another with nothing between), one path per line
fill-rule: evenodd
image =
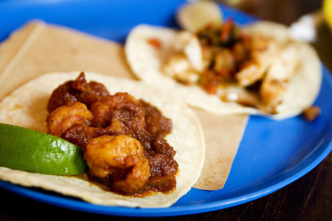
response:
M0 44L0 99L44 73L94 71L134 79L122 45L66 27L28 22ZM198 189L221 189L245 130L248 116L211 115L194 109L203 126L206 159Z

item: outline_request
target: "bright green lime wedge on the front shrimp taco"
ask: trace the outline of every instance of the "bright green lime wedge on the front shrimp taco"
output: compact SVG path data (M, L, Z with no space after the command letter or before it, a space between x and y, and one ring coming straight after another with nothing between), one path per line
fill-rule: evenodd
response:
M83 174L83 151L61 138L0 123L0 166L40 174Z

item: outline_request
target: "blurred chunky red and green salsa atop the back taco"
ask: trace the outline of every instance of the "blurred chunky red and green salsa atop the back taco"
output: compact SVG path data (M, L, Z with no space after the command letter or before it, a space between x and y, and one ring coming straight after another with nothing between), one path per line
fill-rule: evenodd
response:
M199 84L209 94L216 94L221 84L235 83L235 74L252 59L250 37L232 19L221 26L209 24L196 35L206 66Z

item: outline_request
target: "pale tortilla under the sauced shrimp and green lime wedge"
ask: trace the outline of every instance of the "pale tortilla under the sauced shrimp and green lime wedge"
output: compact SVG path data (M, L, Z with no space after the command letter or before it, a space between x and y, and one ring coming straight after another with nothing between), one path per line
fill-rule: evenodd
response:
M166 139L177 151L174 158L179 164L174 192L128 197L102 190L76 176L34 174L4 167L0 167L0 179L23 186L57 191L94 204L132 207L167 207L174 204L194 185L203 167L205 142L197 116L181 100L165 95L144 82L91 72L86 72L85 75L88 81L102 82L111 94L128 92L136 98L150 102L172 119L173 129ZM60 84L77 76L78 72L50 73L24 84L0 103L0 122L45 132L46 106L50 94Z

